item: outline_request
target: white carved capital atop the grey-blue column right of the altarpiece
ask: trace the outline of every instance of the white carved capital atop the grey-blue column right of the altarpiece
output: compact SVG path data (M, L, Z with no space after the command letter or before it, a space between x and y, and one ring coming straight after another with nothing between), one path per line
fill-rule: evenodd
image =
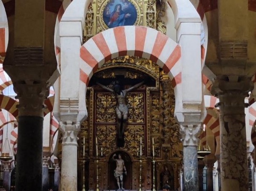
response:
M201 125L180 125L183 146L198 146L201 130Z

